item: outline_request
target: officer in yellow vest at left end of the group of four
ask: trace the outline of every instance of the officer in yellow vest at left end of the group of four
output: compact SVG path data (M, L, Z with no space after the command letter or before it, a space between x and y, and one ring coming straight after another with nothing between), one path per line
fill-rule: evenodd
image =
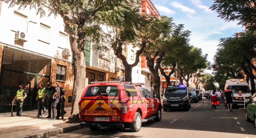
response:
M37 102L38 102L38 113L37 113L37 118L39 118L39 116L41 115L41 110L43 109L43 112L44 114L41 115L42 117L45 116L45 102L43 102L43 94L45 93L45 87L44 87L44 84L43 83L40 83L39 84L39 90L38 90L38 93L37 93Z

